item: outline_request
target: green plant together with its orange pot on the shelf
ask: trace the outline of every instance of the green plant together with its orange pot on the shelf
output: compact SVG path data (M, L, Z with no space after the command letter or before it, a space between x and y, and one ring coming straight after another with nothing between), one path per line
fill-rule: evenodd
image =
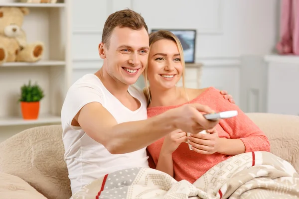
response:
M21 112L23 119L37 119L39 114L39 101L43 99L43 90L37 85L31 85L29 81L28 85L21 87Z

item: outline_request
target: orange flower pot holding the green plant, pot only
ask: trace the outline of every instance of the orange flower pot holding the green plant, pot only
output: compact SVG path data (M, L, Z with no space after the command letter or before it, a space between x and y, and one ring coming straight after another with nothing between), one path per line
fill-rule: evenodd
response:
M39 114L39 101L21 101L23 119L37 119Z

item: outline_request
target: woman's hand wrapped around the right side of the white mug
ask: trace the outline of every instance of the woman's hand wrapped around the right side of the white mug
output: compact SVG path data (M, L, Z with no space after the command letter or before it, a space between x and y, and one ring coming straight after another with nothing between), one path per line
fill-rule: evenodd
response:
M219 137L216 128L207 130L207 134L190 134L188 143L192 150L201 154L213 154L218 151Z

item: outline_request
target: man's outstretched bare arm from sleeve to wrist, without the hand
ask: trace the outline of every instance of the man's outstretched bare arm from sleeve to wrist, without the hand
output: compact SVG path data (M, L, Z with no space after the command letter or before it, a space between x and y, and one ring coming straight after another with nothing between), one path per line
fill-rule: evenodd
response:
M82 129L103 144L112 154L129 153L148 146L152 141L175 129L171 116L118 124L101 103L91 102L75 116ZM156 133L152 133L156 132Z

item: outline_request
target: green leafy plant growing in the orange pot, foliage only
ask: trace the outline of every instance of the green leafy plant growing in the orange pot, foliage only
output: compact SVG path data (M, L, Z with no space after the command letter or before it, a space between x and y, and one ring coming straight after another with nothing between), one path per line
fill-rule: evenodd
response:
M35 83L34 85L31 85L31 80L29 80L28 85L23 85L21 87L21 97L19 101L40 101L43 99L44 93L43 90Z

